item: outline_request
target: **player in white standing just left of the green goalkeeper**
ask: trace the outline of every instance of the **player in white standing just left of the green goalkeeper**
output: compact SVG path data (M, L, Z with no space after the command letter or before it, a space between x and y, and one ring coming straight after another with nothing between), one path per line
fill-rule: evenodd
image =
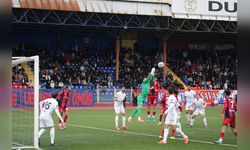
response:
M120 130L119 125L118 125L120 113L122 113L122 128L125 130L128 130L128 127L126 126L126 114L125 114L125 108L124 108L125 100L126 100L125 87L122 87L122 90L118 91L114 98L115 129L117 131Z

